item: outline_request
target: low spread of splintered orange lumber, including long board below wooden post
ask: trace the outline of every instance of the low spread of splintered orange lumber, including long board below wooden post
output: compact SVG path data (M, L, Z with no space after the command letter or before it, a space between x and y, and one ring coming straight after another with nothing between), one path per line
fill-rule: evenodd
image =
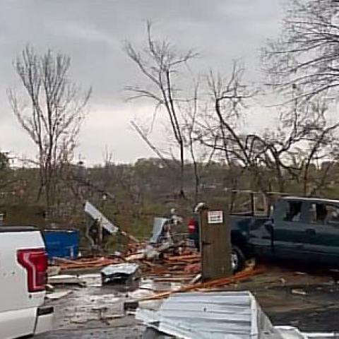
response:
M56 272L57 275L50 278L49 283L55 285L66 282L81 285L79 275L90 271L100 273L102 284L132 283L132 280L136 281L141 277L157 283L177 283L175 289L169 287L168 284L165 287L157 288L156 292L165 294L155 297L162 298L167 297L167 294L171 293L172 290L186 291L222 287L238 280L244 280L262 271L261 268L254 269L252 265L231 278L198 283L201 278L201 256L198 251L184 246L172 246L160 251L157 244L153 244L153 249L162 255L150 259L147 246L149 246L149 243L131 242L124 253L116 253L112 256L92 256L76 260L55 258L55 266L53 266L53 269L50 268L49 271Z

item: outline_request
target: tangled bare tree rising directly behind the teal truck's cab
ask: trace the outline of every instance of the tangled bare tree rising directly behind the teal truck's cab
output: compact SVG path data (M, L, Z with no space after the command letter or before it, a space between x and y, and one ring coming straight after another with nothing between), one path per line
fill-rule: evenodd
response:
M284 105L276 131L266 133L267 151L263 163L275 172L273 177L278 179L280 190L285 188L289 176L301 182L302 193L309 195L314 191L312 187L319 191L326 185L326 180L319 179L320 172L314 167L321 167L323 161L332 163L336 158L339 124L328 117L326 92L314 95L302 105L297 102L300 97L296 92L294 88L292 109Z

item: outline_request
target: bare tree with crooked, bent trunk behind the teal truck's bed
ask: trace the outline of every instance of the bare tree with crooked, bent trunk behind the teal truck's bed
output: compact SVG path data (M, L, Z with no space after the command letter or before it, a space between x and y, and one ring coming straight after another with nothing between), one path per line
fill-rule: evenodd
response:
M204 145L213 148L216 155L224 160L229 168L229 177L234 178L232 188L237 188L239 169L253 167L256 164L254 146L258 138L246 136L239 131L239 121L243 116L246 100L256 93L243 83L244 67L234 61L228 78L210 71L206 77L210 100L204 114L196 124L195 138ZM234 170L234 171L233 171Z

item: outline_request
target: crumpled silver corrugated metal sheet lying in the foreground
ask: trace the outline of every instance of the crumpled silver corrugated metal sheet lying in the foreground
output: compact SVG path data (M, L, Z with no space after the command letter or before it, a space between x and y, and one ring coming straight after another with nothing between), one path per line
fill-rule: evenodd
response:
M282 338L251 292L177 293L136 319L178 338Z

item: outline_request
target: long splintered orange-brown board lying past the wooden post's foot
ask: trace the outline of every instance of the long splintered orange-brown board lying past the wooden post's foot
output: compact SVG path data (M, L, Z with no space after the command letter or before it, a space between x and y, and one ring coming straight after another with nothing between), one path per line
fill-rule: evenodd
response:
M178 288L177 290L157 293L156 295L152 295L150 297L140 299L139 301L163 299L163 298L169 297L169 295L171 295L173 292L189 292L189 291L198 290L198 289L213 289L215 287L230 285L232 283L237 283L238 281L251 278L254 275L261 274L264 272L264 270L265 270L264 268L255 268L253 270L252 269L243 270L242 272L239 272L230 278L221 278L221 279L216 279L216 280L210 280L206 283L195 283L195 284L185 285L183 287Z

